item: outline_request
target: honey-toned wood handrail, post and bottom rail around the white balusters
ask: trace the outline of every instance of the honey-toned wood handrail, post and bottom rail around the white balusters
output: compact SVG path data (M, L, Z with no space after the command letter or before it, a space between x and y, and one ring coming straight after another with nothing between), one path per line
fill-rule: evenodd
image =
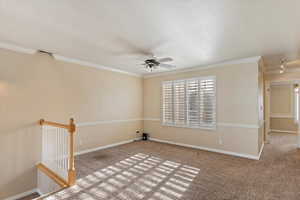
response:
M75 152L75 131L76 131L76 125L74 123L74 119L70 119L70 123L67 124L60 124L56 122L50 122L50 121L45 121L44 119L41 119L39 121L39 124L41 126L43 125L48 125L48 126L53 126L57 128L64 128L67 129L68 132L70 133L70 142L69 142L69 168L68 168L68 180L64 181L62 178L60 178L55 172L51 171L49 168L47 168L43 164L38 164L37 167L43 171L45 174L47 174L50 178L52 178L55 182L57 182L60 186L66 187L66 186L72 186L76 183L76 171L75 171L75 164L74 164L74 152Z

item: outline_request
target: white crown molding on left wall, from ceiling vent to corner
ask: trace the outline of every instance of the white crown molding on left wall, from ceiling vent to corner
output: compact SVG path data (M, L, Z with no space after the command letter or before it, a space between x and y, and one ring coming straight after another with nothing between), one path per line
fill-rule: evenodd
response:
M59 60L59 61L69 62L69 63L83 65L83 66L87 66L87 67L93 67L93 68L96 68L96 69L108 70L108 71L112 71L112 72L118 72L118 73L130 75L130 76L142 77L142 75L139 75L139 74L135 74L135 73L115 69L115 68L112 68L112 67L106 67L106 66L98 65L98 64L91 63L91 62L88 62L88 61L78 60L78 59L75 59L75 58L64 57L64 56L61 56L61 55L58 55L58 54L53 54L53 57L56 60Z

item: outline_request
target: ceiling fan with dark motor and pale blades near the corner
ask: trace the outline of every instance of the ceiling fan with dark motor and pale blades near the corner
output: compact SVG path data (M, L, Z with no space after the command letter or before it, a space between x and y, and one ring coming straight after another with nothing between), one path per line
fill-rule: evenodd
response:
M172 69L175 68L174 65L166 64L165 62L171 62L173 61L170 57L165 58L156 58L155 56L152 56L151 58L148 58L142 63L142 65L145 66L147 70L152 72L154 69L157 69L158 67L166 68L166 69Z

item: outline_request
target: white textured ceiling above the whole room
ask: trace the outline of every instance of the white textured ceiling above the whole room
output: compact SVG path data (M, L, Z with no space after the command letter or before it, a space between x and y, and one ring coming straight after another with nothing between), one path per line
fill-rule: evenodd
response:
M299 0L0 0L0 41L143 74L151 52L178 68L300 55Z

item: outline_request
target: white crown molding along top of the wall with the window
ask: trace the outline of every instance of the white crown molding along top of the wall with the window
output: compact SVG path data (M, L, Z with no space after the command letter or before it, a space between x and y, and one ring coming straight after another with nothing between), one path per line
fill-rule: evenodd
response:
M192 72L192 71L199 71L199 70L206 70L211 68L217 68L217 67L225 67L226 65L236 65L236 64L246 64L246 63L258 63L261 60L261 56L255 56L255 57L249 57L249 58L243 58L243 59L236 59L236 60L229 60L224 61L220 63L215 63L211 65L201 65L198 67L191 67L191 68L183 68L183 69L177 69L167 72L159 72L155 74L144 74L144 78L152 78L157 76L165 76L165 75L171 75L171 74L177 74L177 73L183 73L183 72Z

